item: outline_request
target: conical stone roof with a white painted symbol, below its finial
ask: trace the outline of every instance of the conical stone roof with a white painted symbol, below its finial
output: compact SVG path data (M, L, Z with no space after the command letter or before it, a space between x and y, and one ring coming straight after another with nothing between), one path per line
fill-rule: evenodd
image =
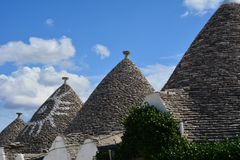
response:
M17 141L24 144L23 152L39 153L49 149L81 108L82 102L77 94L64 83L43 103L19 134Z

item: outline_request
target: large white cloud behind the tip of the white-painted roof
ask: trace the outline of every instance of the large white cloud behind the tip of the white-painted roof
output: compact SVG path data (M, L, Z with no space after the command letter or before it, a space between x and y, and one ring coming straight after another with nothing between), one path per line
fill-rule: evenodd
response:
M9 76L0 75L0 100L10 108L39 107L63 83L62 76L70 78L68 83L85 101L92 90L88 78L53 67L23 67Z

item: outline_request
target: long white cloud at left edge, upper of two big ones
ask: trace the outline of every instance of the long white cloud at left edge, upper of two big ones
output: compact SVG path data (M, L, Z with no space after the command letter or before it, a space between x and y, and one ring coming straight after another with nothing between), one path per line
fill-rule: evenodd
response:
M0 64L54 65L69 60L75 55L72 40L63 36L60 39L42 39L30 37L29 44L22 41L10 41L0 45Z

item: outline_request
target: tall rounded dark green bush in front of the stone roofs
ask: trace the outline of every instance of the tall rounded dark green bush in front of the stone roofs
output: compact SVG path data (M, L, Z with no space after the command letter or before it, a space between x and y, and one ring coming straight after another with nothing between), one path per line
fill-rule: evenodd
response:
M126 130L117 159L151 159L162 150L186 143L172 115L158 112L148 104L133 109L124 126Z

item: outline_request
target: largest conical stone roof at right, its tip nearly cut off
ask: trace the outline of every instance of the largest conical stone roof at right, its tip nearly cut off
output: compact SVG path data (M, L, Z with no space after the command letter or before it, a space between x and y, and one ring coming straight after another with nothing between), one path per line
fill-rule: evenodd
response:
M225 3L216 11L161 94L190 140L240 133L240 4Z

